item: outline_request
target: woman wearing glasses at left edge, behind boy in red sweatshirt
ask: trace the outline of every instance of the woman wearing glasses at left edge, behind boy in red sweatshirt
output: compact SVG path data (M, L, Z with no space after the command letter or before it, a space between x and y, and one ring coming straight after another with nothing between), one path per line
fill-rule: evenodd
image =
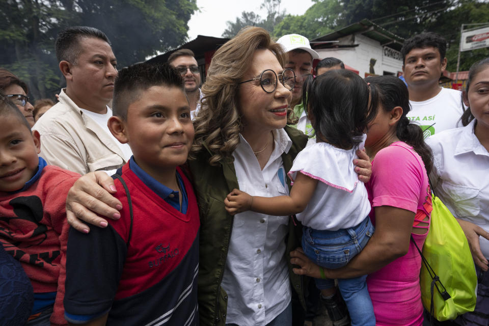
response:
M34 125L34 116L32 114L34 106L32 106L30 99L27 96L29 93L27 84L22 82L19 77L7 69L0 68L0 91L2 91L15 105L17 105L20 112L22 112L25 119L27 119L32 127Z

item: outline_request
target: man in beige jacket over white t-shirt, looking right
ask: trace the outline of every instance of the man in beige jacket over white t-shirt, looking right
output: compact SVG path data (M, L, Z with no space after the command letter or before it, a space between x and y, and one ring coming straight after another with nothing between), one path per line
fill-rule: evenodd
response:
M108 130L117 61L108 38L87 27L68 28L56 39L56 56L66 78L59 103L34 125L48 164L80 174L114 174L131 157L127 144Z

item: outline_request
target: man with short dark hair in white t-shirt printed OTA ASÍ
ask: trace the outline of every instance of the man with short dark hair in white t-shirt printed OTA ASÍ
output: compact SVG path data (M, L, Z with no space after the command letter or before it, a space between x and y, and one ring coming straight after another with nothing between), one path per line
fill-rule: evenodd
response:
M425 138L461 126L461 92L439 85L447 67L446 44L438 34L422 33L406 40L401 49L402 72L411 104L408 118L421 126Z

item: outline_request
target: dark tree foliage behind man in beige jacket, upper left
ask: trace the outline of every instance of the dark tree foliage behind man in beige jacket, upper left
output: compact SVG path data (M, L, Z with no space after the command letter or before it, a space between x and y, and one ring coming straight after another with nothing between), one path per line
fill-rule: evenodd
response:
M34 98L53 98L64 84L54 48L62 29L100 29L123 67L181 44L196 10L196 0L3 0L0 66L19 74Z

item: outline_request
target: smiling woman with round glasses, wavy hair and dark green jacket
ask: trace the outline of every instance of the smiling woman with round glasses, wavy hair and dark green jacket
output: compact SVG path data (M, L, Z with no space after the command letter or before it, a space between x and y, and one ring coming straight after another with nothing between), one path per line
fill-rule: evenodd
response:
M271 41L268 32L243 29L215 52L202 88L188 161L201 218L202 325L301 323L292 323L292 308L300 313L302 308L292 305L291 297L293 288L304 304L304 281L292 273L289 252L300 245L302 227L290 216L254 212L232 216L224 205L234 188L266 197L289 193L286 173L307 137L286 126L295 78L293 71L283 68L285 62L282 47ZM370 175L368 160L358 166L366 168L360 169L362 174ZM104 220L81 207L87 198L94 204L91 209L108 217L121 203L106 192L97 198L107 204L87 196L86 192L100 190L95 181L112 192L110 178L89 174L71 189L67 202L78 218L98 226ZM69 221L80 231L88 229L71 212Z

